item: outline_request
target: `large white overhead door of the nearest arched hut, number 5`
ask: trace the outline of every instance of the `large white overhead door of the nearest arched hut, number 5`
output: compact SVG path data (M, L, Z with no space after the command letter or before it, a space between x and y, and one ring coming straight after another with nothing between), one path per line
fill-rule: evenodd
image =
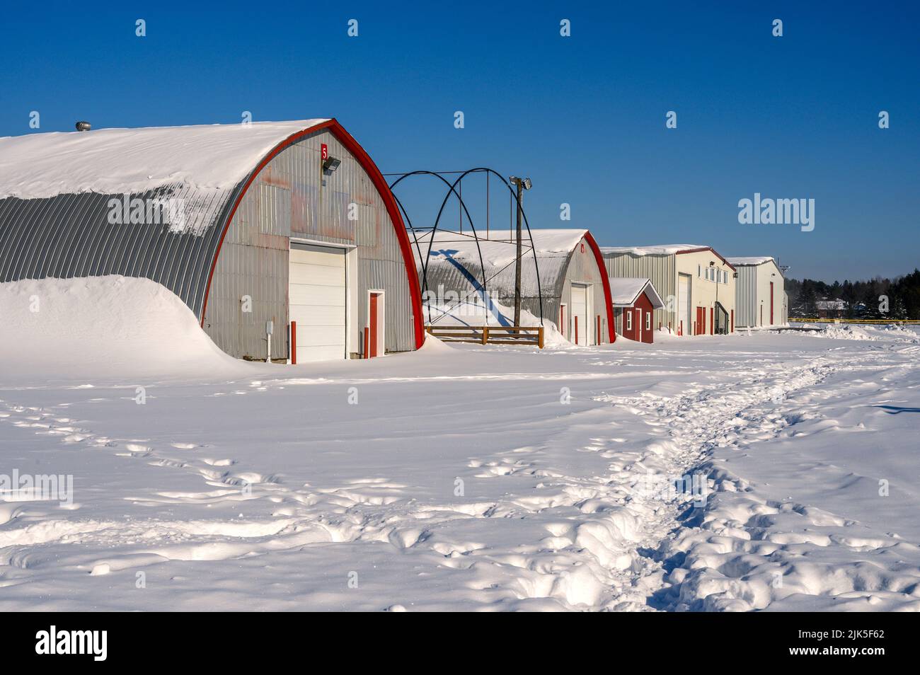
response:
M344 359L345 250L291 243L290 321L298 363Z

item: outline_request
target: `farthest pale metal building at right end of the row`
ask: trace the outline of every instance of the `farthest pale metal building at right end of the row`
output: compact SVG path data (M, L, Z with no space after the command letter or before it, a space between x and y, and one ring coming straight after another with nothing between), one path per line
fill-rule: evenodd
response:
M735 283L735 326L776 326L788 323L783 269L774 257L729 257L738 270Z

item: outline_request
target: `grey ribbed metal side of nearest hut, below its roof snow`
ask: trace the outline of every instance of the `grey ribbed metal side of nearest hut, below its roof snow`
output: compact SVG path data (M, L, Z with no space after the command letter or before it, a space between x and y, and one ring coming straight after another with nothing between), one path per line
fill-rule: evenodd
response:
M120 194L83 192L0 200L0 281L68 279L121 274L161 283L201 317L208 273L220 237L216 222L226 191L182 184L130 195L130 199L180 200L182 233L169 224L110 224L109 200Z

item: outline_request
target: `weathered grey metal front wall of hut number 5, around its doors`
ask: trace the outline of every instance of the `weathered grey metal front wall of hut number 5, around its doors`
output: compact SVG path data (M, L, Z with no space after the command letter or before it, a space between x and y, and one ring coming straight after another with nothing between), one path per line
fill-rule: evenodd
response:
M322 143L341 160L321 174ZM323 180L325 179L325 185ZM349 205L355 204L350 220ZM227 231L204 328L237 357L264 358L265 322L273 320L271 352L288 353L286 326L289 237L357 246L357 303L351 308L351 345L362 344L367 290L385 291L385 349L414 349L412 300L396 230L374 183L354 156L326 130L309 134L271 159L252 182ZM243 312L242 297L252 299Z

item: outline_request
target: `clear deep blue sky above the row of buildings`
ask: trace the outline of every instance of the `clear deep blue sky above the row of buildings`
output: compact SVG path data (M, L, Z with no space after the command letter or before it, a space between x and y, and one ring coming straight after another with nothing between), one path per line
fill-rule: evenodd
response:
M32 110L40 132L336 117L385 172L529 176L533 226L602 245L706 244L823 280L920 265L913 3L190 5L8 6L0 135L34 132ZM481 204L482 179L465 188ZM754 192L814 199L814 230L738 223ZM443 192L397 195L420 222Z

